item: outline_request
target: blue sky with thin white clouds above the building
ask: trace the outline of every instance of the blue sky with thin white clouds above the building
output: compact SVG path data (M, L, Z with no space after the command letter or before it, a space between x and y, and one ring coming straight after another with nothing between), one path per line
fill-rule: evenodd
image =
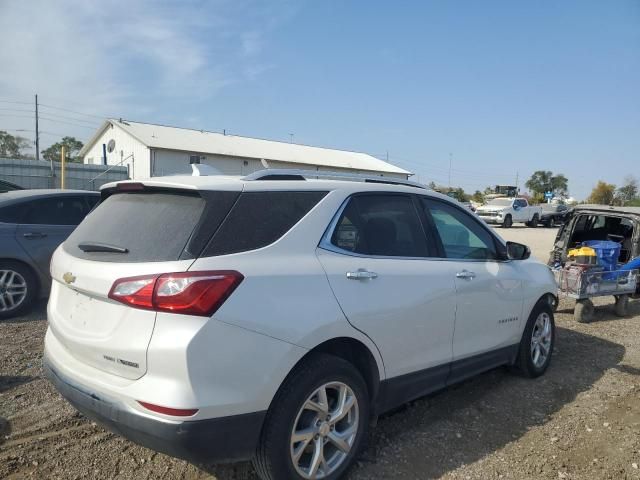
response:
M32 138L32 107L7 101L37 92L45 145L110 115L293 133L423 182L446 184L451 154L467 191L640 177L638 0L3 0L0 41L0 129Z

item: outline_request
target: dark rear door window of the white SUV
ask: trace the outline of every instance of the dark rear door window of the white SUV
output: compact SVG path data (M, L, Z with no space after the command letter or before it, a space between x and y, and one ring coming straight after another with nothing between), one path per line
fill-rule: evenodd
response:
M342 212L331 243L342 250L387 257L427 257L427 239L411 197L358 195Z

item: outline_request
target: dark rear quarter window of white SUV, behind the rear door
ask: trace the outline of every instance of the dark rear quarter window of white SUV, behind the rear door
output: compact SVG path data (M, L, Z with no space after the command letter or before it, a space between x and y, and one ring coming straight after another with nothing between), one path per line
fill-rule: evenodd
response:
M202 256L226 255L266 247L287 233L326 194L242 193Z

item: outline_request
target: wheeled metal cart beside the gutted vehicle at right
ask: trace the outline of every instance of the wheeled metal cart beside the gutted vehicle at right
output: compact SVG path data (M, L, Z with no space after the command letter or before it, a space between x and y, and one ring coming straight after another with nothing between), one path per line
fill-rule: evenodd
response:
M569 267L554 270L558 296L576 300L573 317L577 322L593 320L593 297L611 295L616 299L616 315L627 315L629 298L636 292L638 270L606 271L597 268Z

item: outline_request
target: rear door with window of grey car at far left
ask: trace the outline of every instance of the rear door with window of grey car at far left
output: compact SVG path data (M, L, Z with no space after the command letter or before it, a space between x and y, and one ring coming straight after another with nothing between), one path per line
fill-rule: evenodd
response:
M51 255L87 215L88 203L83 195L55 195L29 200L23 208L16 239L38 270L48 275Z

